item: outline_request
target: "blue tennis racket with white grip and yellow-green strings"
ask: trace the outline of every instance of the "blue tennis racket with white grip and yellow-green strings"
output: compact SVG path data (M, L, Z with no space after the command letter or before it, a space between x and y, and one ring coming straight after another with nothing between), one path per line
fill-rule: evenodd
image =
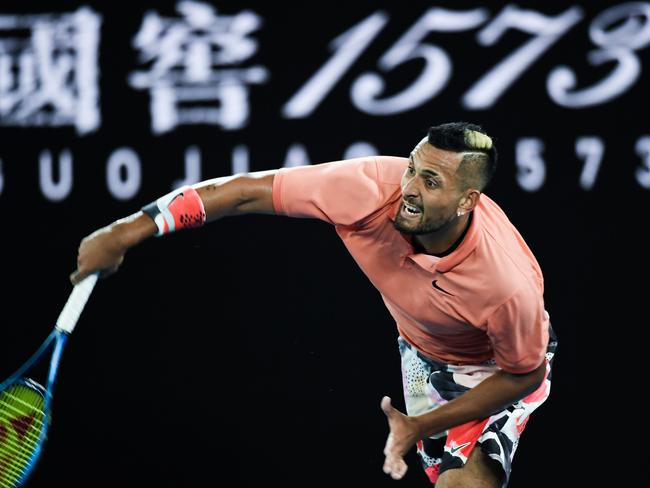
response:
M77 284L52 333L31 358L0 383L0 488L22 485L29 477L47 436L52 389L63 347L97 282L92 274ZM45 386L31 375L52 350Z

